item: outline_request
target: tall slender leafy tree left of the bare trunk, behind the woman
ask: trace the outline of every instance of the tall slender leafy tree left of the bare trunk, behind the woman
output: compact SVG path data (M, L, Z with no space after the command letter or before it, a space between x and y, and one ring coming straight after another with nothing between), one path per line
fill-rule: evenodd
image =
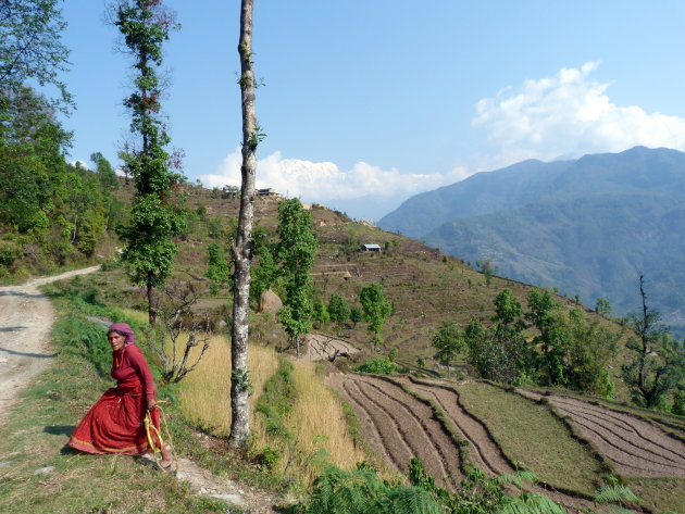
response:
M119 0L114 25L134 58L134 92L124 104L132 112L130 131L139 137L137 148L120 153L136 185L130 222L121 230L126 242L122 259L133 281L147 289L149 322L154 325L154 288L171 275L177 251L173 237L183 228L172 195L180 176L170 170L171 156L164 149L170 137L160 115L162 89L157 75L162 45L178 25L161 0Z

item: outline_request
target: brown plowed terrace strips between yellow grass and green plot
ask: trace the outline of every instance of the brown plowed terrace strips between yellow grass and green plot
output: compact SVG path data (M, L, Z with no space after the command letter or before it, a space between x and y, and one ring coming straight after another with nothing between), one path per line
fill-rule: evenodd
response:
M432 401L445 413L456 435L470 442L468 450L473 464L487 476L514 471L481 422L462 408L458 392L449 386L352 374L332 375L328 380L352 404L368 440L402 473L407 473L411 457L416 456L434 477L443 477L436 480L438 485L452 489L462 475L464 463L457 444L435 418L433 409L401 386ZM537 485L528 485L526 490L548 496L570 513L593 506L591 502Z

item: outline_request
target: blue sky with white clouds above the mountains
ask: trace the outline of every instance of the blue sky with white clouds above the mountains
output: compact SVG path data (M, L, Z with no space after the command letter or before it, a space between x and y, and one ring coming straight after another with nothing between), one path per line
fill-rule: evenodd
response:
M167 1L163 102L185 173L239 179L239 1ZM379 218L523 159L685 151L685 2L256 0L258 185ZM72 160L114 164L130 76L104 2L67 0Z

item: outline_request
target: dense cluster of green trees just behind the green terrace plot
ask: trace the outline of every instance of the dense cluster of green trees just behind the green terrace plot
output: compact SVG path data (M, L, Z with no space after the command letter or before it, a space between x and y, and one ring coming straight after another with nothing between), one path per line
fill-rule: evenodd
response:
M566 311L549 291L531 290L523 312L511 290L503 289L494 306L490 326L472 319L463 335L469 364L481 377L612 396L608 366L618 351L618 334L588 323L581 308ZM526 340L524 330L531 327L536 333Z

